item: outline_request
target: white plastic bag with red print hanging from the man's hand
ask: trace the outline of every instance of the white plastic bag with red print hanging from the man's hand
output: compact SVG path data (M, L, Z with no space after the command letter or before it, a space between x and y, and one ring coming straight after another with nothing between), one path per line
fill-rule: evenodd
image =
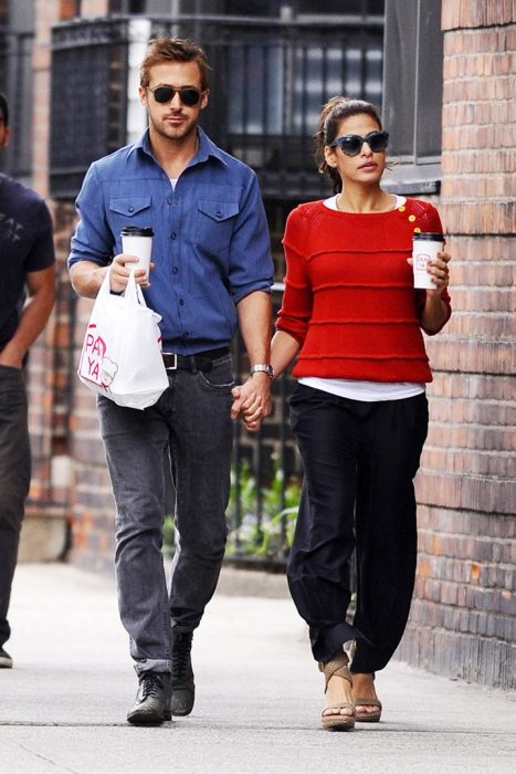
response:
M145 303L134 273L124 295L101 285L84 336L77 376L118 406L152 406L168 387L161 357L160 315Z

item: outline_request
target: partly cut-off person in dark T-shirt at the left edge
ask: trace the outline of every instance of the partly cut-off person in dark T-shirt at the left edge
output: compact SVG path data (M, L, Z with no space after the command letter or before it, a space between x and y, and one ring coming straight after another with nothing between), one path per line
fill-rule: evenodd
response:
M9 142L9 106L0 93L0 149ZM31 458L23 366L54 304L52 220L34 191L0 175L0 668ZM27 301L25 301L27 296Z

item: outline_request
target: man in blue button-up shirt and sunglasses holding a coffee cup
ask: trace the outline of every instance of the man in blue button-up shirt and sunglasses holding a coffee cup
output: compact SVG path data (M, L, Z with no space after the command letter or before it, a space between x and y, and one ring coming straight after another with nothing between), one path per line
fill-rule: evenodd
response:
M135 276L162 316L169 388L145 411L98 398L117 510L120 618L139 682L127 715L134 724L159 724L192 710L192 632L215 589L225 546L230 410L233 417L251 412L253 429L270 411L267 224L254 172L198 126L209 98L208 70L191 41L150 42L139 88L149 127L135 145L89 168L69 259L80 295L95 297L108 266L110 290L120 293L136 260L122 252L122 228L154 230L150 276L139 269ZM238 324L252 375L232 407L229 345ZM161 556L167 475L178 533L169 594Z

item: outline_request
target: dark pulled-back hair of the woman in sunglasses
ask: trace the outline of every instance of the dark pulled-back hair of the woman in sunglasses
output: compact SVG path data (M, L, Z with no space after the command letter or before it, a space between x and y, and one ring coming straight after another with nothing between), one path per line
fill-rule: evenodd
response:
M381 118L378 108L365 100L354 100L344 96L331 97L320 111L317 132L315 133L316 149L315 160L317 169L322 175L329 175L334 194L338 194L343 188L343 181L338 171L330 167L325 159L324 149L326 145L331 145L337 138L340 122L357 115L369 115L381 129Z

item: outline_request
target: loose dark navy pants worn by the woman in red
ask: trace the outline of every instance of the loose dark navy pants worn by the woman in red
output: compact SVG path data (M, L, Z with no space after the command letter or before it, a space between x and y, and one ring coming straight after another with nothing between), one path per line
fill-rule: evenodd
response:
M354 672L382 669L407 625L417 526L413 478L428 430L424 394L350 400L298 385L291 421L304 463L288 586L309 626L314 658L357 640ZM356 548L352 626L350 559Z

